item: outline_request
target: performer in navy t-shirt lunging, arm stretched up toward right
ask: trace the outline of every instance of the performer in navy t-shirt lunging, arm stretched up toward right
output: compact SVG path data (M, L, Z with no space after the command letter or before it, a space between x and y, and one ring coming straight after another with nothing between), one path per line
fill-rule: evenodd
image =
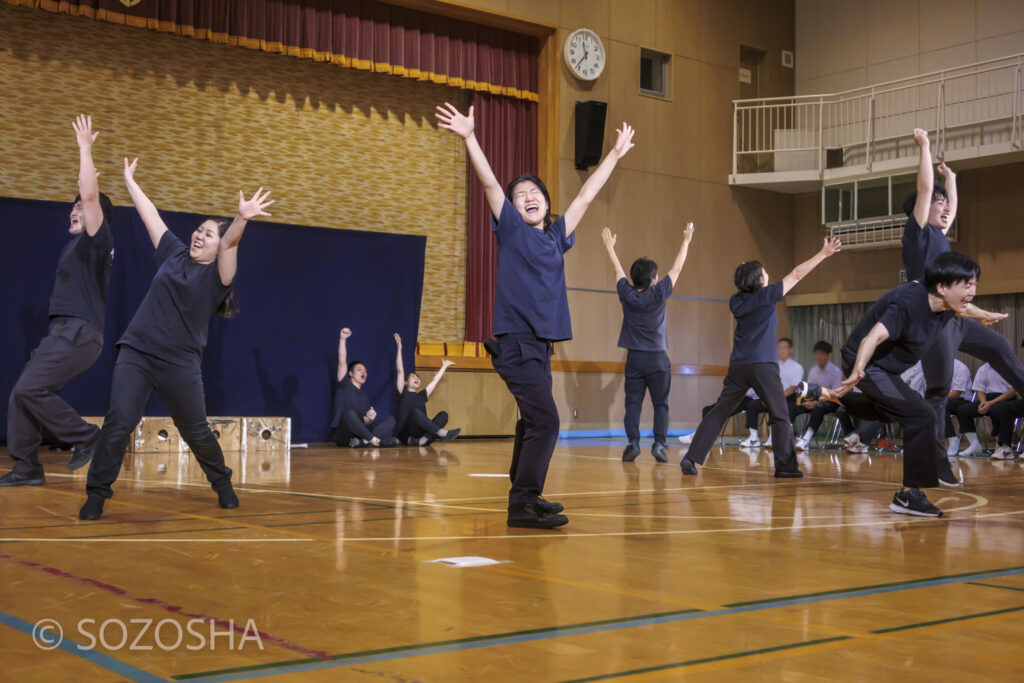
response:
M721 433L725 421L739 405L748 389L754 389L768 407L771 418L775 476L804 476L797 468L793 424L790 422L790 410L779 375L775 341L778 316L775 306L797 283L821 261L837 253L841 246L837 238L826 238L817 254L798 265L780 282L770 285L768 271L760 261L746 261L736 268L732 280L737 292L729 299L729 309L736 318L729 371L722 383L722 393L714 408L700 420L686 456L680 463L683 474L697 473L696 466L703 465L708 459L711 445Z

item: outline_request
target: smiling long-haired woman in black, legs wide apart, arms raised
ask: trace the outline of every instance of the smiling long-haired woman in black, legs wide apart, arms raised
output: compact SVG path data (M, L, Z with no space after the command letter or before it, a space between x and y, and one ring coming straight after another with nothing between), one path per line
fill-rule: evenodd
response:
M222 508L239 507L231 487L231 470L206 418L203 372L210 318L233 317L239 303L231 282L239 262L239 241L246 223L269 216L264 209L269 191L260 187L251 200L239 191L234 220L207 218L191 233L190 247L167 229L157 207L135 182L136 159L125 159L125 185L156 248L157 274L128 329L118 340L118 359L111 384L111 405L95 446L86 480L88 500L80 519L99 519L103 503L121 473L131 431L142 418L156 391L174 420L181 438L191 449Z

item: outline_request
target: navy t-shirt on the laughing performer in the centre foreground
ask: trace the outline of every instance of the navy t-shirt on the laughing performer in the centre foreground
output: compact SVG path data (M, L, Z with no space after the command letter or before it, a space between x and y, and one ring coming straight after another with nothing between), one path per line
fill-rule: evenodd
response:
M495 335L572 339L562 255L575 244L575 233L565 237L564 217L538 229L505 200L501 217L490 217L490 229L498 238Z

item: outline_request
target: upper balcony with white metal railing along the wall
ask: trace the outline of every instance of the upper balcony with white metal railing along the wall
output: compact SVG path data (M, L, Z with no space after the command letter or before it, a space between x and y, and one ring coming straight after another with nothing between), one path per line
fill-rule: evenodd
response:
M729 184L798 194L916 167L911 132L955 169L1024 159L1024 53L837 94L733 102Z

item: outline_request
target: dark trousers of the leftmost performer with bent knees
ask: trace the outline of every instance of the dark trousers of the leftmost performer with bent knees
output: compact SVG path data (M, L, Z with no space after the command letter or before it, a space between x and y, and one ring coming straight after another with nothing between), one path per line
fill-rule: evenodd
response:
M96 433L57 392L88 370L103 348L103 332L77 317L55 317L32 352L7 402L7 451L14 472L41 475L39 445L46 429L65 443L81 443Z

